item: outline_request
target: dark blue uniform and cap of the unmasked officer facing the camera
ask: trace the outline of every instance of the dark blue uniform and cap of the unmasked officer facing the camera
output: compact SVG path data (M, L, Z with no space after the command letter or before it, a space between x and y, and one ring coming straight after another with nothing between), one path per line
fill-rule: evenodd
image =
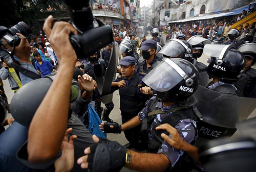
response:
M135 63L135 58L127 56L121 60L119 64L128 66L130 63ZM125 63L123 63L125 62ZM143 72L134 71L133 76L130 79L126 77L118 76L113 82L125 81L125 87L112 87L111 92L119 89L120 94L120 111L122 116L122 123L127 122L144 108L145 102L150 98L148 95L144 95L140 88L146 86L142 82L142 78L146 75ZM138 139L140 135L140 126L131 130L124 131L126 139L130 142L130 146L137 148Z

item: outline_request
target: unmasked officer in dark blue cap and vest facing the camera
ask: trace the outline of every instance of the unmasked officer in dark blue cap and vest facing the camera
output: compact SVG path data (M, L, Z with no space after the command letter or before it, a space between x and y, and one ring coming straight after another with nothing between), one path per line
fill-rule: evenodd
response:
M119 65L121 65L122 76L118 76L112 82L111 92L118 89L120 94L122 123L129 121L144 108L149 97L144 95L143 91L151 96L153 95L153 91L149 87L144 88L146 85L142 82L142 78L145 73L135 70L136 63L135 58L131 56L121 59ZM127 148L137 148L139 133L140 127L124 132L126 139L129 141L129 144L126 145Z

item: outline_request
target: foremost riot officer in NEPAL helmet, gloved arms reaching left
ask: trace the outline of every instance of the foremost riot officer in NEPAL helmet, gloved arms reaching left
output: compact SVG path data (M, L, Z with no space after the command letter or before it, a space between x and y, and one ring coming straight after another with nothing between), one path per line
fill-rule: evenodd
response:
M98 151L89 154L88 159L97 159L97 162L88 160L91 163L90 168L108 169L109 171L116 169L118 171L126 163L127 167L138 171L164 171L166 168L168 170L179 169L180 171L191 170L192 167L187 164L190 161L188 161L188 158L184 159L184 152L174 149L163 140L160 136L163 130L156 130L156 127L168 123L178 130L182 139L186 142L190 143L195 139L197 135L196 118L193 111L186 106L186 102L191 99L198 88L199 74L196 67L184 59L165 58L144 77L143 81L155 89L157 95L148 101L138 116L121 126L117 123L107 122L101 124L100 127L106 133L120 133L140 124L143 126L143 123L148 124L148 130L145 129L148 131L148 151L158 154L137 153L123 149L116 142L101 141L94 145L94 150ZM167 135L172 137L169 134ZM116 149L109 149L110 146ZM99 151L102 150L101 148L104 148L108 154ZM114 159L118 159L120 162L110 160L108 165L103 167L101 163L110 157L115 157ZM181 162L181 160L184 161ZM184 162L187 163L184 164Z

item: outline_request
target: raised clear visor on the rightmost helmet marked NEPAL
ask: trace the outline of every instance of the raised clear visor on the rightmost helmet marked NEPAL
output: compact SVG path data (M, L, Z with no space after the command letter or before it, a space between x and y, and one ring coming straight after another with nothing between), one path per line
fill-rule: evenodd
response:
M206 56L209 56L209 57L217 57L217 58L219 58L221 53L222 53L222 51L224 50L224 48L226 48L226 46L229 46L229 45L206 44L204 46L203 53Z

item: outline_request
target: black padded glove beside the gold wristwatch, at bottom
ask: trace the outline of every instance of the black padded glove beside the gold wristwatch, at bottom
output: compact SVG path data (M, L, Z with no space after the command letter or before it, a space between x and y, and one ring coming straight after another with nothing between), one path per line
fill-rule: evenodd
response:
M87 159L89 171L120 171L125 165L126 149L116 141L99 139L90 147Z

